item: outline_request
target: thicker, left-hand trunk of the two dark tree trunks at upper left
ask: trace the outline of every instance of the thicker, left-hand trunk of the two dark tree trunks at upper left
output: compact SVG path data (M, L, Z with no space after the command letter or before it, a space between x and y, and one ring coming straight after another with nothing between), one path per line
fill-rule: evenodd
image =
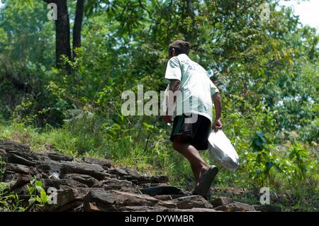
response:
M67 11L67 0L56 0L57 4L57 21L55 21L55 55L57 67L62 67L62 55L72 60L70 47L69 32L69 13ZM68 67L67 67L68 68Z

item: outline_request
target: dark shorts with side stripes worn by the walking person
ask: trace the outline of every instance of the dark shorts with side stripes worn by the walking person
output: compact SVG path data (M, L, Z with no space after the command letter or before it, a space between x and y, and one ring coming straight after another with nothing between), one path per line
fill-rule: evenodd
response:
M174 137L182 135L186 137L186 141L193 145L198 150L206 150L208 148L208 136L211 132L211 120L203 115L197 115L197 120L194 123L188 123L187 118L191 115L177 115L174 118L171 137L172 142Z

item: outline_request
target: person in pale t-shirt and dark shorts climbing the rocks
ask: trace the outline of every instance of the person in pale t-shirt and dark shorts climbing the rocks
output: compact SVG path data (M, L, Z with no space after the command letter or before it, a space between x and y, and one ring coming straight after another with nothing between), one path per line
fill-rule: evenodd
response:
M206 164L198 150L208 148L211 128L215 131L223 128L221 96L206 70L189 58L189 50L189 43L182 40L169 45L165 79L169 81L170 101L164 122L169 123L174 116L170 137L173 148L191 164L196 179L194 194L206 198L218 169ZM213 103L216 108L215 120ZM174 115L171 112L174 112Z

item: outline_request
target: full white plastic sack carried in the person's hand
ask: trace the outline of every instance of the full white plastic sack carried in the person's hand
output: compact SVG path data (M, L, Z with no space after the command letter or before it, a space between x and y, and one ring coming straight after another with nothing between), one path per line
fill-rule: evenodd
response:
M239 166L239 157L222 130L214 130L208 137L208 152L211 158L230 171L236 171Z

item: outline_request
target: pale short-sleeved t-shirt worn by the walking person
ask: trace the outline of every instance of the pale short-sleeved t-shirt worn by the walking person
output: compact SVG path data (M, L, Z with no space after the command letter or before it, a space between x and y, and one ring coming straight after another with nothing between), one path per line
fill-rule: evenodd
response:
M167 63L165 79L181 81L174 115L196 113L213 120L213 103L211 96L218 92L217 87L203 67L189 59L186 54L172 57ZM167 80L169 82L169 80Z

